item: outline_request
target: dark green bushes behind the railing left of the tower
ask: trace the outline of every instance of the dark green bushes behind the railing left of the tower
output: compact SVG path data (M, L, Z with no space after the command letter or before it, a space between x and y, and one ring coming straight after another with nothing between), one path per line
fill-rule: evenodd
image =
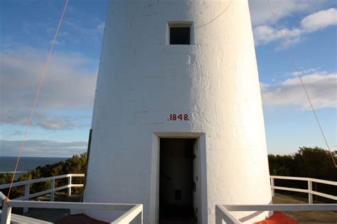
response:
M65 161L59 161L56 164L48 164L46 166L38 166L31 172L21 174L16 182L28 181L38 178L45 178L49 176L59 176L63 174L84 174L85 166L87 164L87 153L80 154L80 156L74 155L70 159ZM0 185L5 183L11 183L13 174L0 174ZM82 177L73 177L72 183L83 183ZM64 186L68 184L68 178L61 178L55 180L55 188L58 186ZM45 191L50 188L50 181L44 181L41 183L33 183L30 186L30 193L37 193ZM9 189L2 189L1 191L7 195ZM82 192L82 188L73 188L73 191L77 193ZM11 188L11 195L9 198L18 198L24 195L24 186Z

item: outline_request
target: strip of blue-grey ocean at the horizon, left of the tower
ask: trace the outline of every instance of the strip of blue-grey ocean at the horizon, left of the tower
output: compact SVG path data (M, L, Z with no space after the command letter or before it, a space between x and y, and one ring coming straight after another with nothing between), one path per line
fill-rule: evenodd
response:
M0 156L0 174L11 173L15 169L16 156ZM46 164L55 164L58 161L66 160L69 158L57 157L21 157L18 163L17 173L22 174L28 171L33 171L38 166L45 166Z

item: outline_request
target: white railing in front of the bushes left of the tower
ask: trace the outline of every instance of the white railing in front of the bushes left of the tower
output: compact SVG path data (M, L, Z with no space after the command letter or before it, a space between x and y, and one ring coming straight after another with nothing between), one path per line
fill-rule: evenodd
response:
M28 200L30 198L36 198L38 196L43 196L46 195L47 193L50 193L50 201L54 201L55 199L55 191L60 191L63 189L68 189L68 196L71 196L71 188L72 187L82 187L82 183L72 183L72 177L84 177L84 174L65 174L65 175L60 175L60 176L50 176L46 178L38 178L34 180L29 180L29 181L21 181L21 182L14 182L12 187L18 187L18 186L24 186L24 191L25 194L24 196L14 198L12 200ZM59 186L55 188L55 180L61 179L61 178L68 178L68 184L64 186ZM31 188L31 184L33 183L41 183L44 181L50 181L50 189L46 191L40 191L37 193L30 193L29 190ZM10 183L7 184L2 184L0 185L0 190L1 189L6 189L11 186ZM23 208L23 213L28 212L28 208Z

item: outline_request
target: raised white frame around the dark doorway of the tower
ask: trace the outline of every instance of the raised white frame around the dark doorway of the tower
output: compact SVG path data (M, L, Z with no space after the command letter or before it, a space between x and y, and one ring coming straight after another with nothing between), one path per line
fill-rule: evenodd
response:
M198 223L208 222L206 142L203 132L155 132L152 137L151 183L150 183L150 223L159 223L159 160L160 138L196 139L198 144Z

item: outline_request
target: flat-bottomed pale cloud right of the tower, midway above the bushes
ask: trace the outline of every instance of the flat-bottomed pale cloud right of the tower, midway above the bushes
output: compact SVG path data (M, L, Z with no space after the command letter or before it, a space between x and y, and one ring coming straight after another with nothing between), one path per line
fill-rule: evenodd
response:
M303 75L311 102L315 109L337 106L337 73L313 73ZM295 106L302 110L309 110L299 78L289 78L278 85L261 83L262 102L264 106Z

